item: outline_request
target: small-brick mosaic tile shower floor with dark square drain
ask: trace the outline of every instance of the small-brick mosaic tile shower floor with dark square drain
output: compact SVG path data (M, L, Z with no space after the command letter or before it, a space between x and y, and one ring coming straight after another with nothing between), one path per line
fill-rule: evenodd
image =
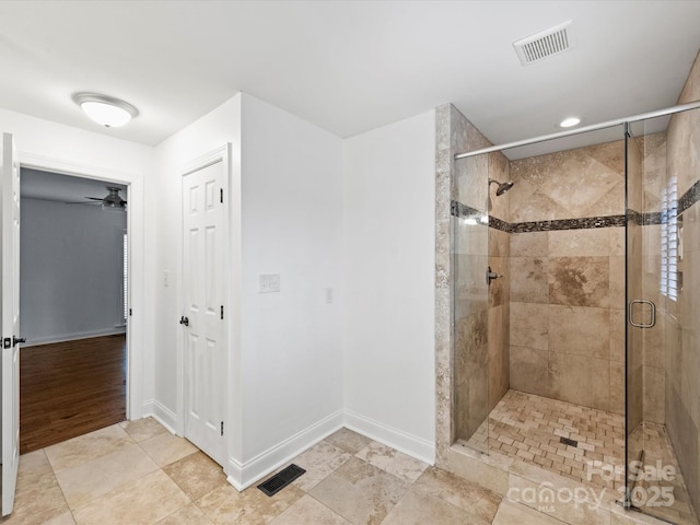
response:
M673 505L646 508L656 517L697 525L678 462L663 425L644 423L631 439L644 440L644 465L669 465L676 476ZM625 480L625 417L571 402L509 390L489 418L466 442L468 447L502 454L583 483L621 491ZM618 474L615 474L615 470ZM651 502L654 483L640 483L637 493ZM652 495L652 497L650 497ZM661 503L660 498L655 498ZM668 499L666 499L668 501Z

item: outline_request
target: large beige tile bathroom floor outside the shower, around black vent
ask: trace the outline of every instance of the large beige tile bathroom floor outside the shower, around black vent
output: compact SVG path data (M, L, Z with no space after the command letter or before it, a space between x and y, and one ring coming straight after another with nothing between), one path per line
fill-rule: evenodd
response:
M155 420L125 422L21 456L15 510L1 523L555 523L347 429L294 463L306 474L272 498L256 487L240 493L218 465Z

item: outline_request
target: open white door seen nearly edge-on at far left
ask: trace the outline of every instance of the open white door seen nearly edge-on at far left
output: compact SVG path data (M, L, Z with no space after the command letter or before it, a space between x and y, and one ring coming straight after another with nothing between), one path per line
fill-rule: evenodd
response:
M2 515L14 506L20 464L20 164L2 136Z

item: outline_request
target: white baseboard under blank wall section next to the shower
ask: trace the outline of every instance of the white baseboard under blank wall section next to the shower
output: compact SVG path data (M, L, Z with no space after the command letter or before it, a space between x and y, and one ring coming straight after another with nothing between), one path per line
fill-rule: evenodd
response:
M402 430L388 427L351 410L343 411L343 423L349 430L377 441L386 446L408 454L429 465L435 464L435 443Z

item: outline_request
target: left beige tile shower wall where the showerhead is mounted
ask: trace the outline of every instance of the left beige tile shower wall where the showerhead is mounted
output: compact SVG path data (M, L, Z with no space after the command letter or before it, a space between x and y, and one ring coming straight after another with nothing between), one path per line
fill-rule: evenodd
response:
M440 264L439 257L438 275L442 277L444 272L446 277L448 271L446 282L453 283L451 290L438 291L438 315L444 317L444 306L451 306L453 324L451 338L445 339L440 334L443 322L436 319L438 395L439 400L444 399L438 405L440 457L441 450L444 454L445 445L455 439L467 440L509 388L509 283L499 279L488 287L486 271L491 265L498 273L509 272L510 246L506 233L481 221L474 224L464 219L444 219L450 188L454 200L479 210L485 218L493 213L508 220L508 194L497 199L495 189L489 191L488 178L508 180L509 162L501 153L455 162L455 153L490 144L454 106L440 107L436 115L439 255L452 236L452 258ZM447 173L448 186L444 176ZM451 355L443 353L445 340L452 342ZM447 371L452 374L445 374ZM446 409L451 418L446 417Z

